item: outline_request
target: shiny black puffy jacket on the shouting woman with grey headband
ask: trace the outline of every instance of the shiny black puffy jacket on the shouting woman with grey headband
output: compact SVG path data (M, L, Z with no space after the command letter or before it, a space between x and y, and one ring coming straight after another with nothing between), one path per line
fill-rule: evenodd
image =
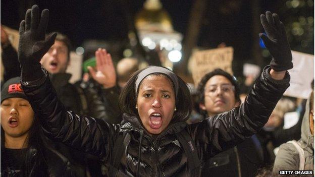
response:
M128 132L130 141L120 165L125 174L136 176L140 161L140 176L187 176L187 157L174 134L185 129L203 162L249 138L265 125L289 86L288 73L285 79L276 81L269 72L270 68L266 67L240 107L192 125L184 122L187 117L180 117L181 122L170 124L155 139L136 116L124 114L125 123L114 125L67 111L57 99L47 74L38 81L22 81L22 87L36 114L43 118L40 120L42 129L51 139L97 155L108 163L119 133Z

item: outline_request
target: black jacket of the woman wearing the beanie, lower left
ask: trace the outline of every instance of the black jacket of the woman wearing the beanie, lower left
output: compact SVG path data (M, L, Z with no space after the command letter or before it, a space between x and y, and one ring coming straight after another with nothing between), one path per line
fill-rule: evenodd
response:
M1 175L14 176L82 176L82 172L64 154L54 148L50 140L37 134L40 145L26 149L6 149L1 146ZM13 151L15 151L14 154Z

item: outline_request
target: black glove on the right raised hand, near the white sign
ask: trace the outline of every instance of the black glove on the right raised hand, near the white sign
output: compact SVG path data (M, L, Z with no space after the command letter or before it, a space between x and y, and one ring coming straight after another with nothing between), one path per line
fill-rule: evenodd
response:
M265 46L273 56L270 62L271 68L275 71L286 71L293 68L292 53L286 36L284 25L280 22L277 14L267 11L266 16L260 15L260 22L263 25L267 36L259 33Z

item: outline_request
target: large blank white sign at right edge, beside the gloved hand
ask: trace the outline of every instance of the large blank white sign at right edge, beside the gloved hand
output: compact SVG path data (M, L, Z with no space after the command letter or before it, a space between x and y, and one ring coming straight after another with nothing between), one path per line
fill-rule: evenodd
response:
M291 76L290 87L285 96L307 99L314 79L314 55L292 51L293 68L288 70Z

